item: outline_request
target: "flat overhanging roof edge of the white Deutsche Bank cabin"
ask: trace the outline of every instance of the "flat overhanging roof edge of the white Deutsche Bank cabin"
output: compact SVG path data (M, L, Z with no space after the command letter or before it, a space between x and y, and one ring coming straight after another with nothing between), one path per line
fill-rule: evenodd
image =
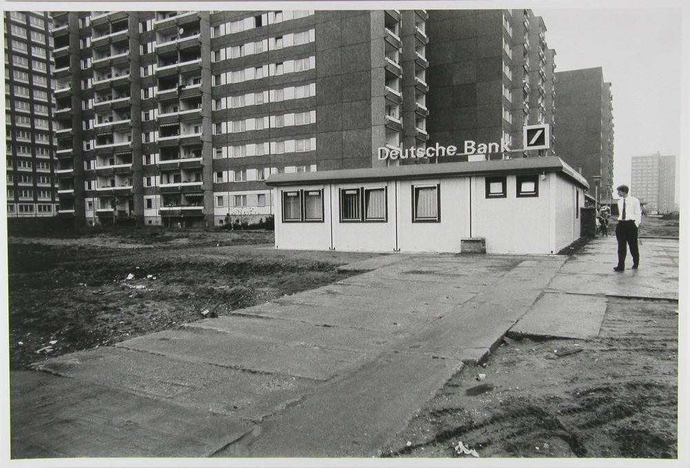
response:
M266 179L266 185L373 182L388 181L391 179L420 179L422 177L495 176L533 174L535 172L557 172L577 185L589 189L589 183L587 183L586 179L572 167L564 163L558 156L271 174L268 179Z

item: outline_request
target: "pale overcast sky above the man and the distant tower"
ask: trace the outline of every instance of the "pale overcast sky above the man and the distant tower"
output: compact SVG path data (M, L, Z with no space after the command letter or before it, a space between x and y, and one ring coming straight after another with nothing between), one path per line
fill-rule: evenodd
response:
M602 67L604 81L611 83L614 186L630 185L631 156L672 154L678 202L682 15L653 4L532 10L544 19L557 72ZM556 107L558 112L558 101Z

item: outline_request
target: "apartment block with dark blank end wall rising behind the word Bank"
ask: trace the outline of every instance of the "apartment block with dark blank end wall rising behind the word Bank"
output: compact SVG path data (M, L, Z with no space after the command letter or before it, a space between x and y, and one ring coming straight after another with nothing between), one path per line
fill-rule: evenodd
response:
M542 19L531 10L433 10L428 30L428 144L504 141L511 149L443 161L546 155L522 151L524 126L551 117Z

